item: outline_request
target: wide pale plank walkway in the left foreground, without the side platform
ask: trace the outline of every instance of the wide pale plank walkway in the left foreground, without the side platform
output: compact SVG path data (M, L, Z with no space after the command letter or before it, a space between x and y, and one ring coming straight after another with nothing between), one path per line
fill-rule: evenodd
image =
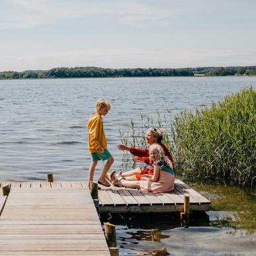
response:
M0 207L0 255L110 255L80 183L11 183Z

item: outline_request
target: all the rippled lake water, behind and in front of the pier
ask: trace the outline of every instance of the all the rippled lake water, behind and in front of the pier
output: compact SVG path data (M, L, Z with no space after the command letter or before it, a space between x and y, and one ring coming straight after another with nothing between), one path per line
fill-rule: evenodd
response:
M203 107L248 85L256 87L256 77L0 81L0 180L45 180L49 172L59 180L87 179L91 158L85 124L99 98L112 105L103 121L115 158L113 169L120 169L122 152L116 145L119 130L127 132L130 118L140 120L140 114L157 118L157 112L169 110L174 115L183 108ZM102 167L99 163L95 180ZM157 219L153 227L147 222L142 226L116 222L120 254L152 255L166 247L171 255L253 255L255 192L222 185L191 186L212 200L207 213L210 226L183 229L160 225Z

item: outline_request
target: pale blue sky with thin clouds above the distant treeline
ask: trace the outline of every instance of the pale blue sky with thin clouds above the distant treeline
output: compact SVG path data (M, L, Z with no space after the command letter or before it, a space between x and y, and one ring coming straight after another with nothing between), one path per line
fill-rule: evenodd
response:
M0 0L0 71L256 65L255 0Z

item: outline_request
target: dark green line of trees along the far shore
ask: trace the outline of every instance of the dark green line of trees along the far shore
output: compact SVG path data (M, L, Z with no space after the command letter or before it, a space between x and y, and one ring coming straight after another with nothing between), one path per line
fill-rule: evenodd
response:
M231 67L122 68L56 67L49 70L1 71L0 79L54 79L85 77L172 77L256 75L256 65Z

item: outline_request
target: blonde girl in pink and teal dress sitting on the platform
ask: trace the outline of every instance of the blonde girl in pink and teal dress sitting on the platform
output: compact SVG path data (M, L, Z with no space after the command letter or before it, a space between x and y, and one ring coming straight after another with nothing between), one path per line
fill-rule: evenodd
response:
M116 186L138 188L149 192L168 192L174 189L175 174L173 163L165 156L159 144L149 147L149 160L153 161L153 175L144 174L140 181L118 179L112 173L112 183Z

